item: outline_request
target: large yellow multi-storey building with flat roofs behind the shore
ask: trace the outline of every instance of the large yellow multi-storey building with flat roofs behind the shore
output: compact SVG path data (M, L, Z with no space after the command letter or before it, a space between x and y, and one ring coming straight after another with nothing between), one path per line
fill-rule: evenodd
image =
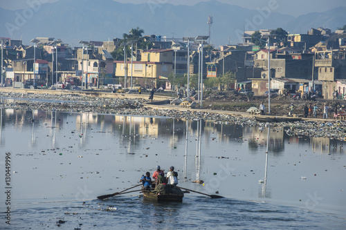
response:
M140 86L157 86L156 80L162 77L168 77L173 72L173 50L147 50L142 53L140 61L126 61L126 70L124 61L114 61L116 65L116 77L119 77L120 84L124 86L126 73L126 87L140 84Z

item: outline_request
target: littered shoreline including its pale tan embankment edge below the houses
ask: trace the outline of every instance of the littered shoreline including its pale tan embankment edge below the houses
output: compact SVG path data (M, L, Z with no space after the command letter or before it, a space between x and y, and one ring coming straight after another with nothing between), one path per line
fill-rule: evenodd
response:
M217 111L206 108L182 108L159 102L172 97L154 96L155 102L149 102L147 95L103 93L102 97L96 97L100 92L80 92L65 90L48 94L44 91L26 89L19 92L13 90L0 91L0 107L19 110L62 111L75 113L102 113L109 115L138 115L154 117L171 117L179 119L204 119L219 124L250 124L264 126L265 123L256 122L255 115L237 111ZM17 90L15 90L17 91ZM32 92L34 91L34 93ZM52 91L52 90L48 90ZM26 92L26 93L25 93ZM3 99L6 102L3 102ZM159 99L159 100L157 100ZM15 102L23 100L22 102ZM37 102L39 100L40 102ZM13 101L13 102L9 102ZM158 103L158 104L157 104ZM264 115L261 117L282 117ZM346 121L335 119L304 118L300 122L278 122L271 126L282 126L284 131L291 136L305 137L329 137L340 141L346 141Z

